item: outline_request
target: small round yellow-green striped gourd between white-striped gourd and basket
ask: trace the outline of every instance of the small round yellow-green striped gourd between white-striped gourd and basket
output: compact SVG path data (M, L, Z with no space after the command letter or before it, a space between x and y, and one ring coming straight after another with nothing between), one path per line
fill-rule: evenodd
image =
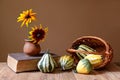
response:
M71 56L64 55L60 57L59 62L62 70L68 70L73 68L74 59Z

